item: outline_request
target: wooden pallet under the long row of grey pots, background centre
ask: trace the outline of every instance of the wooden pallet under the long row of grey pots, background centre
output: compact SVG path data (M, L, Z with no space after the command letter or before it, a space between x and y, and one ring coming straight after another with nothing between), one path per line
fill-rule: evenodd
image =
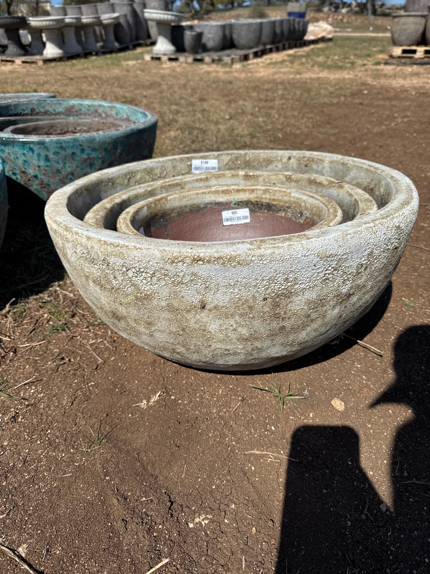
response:
M162 62L185 62L187 64L193 62L204 62L205 64L212 64L213 62L226 62L233 64L236 62L243 62L259 58L271 52L280 52L282 50L291 50L292 48L303 48L311 44L317 44L318 40L297 40L291 42L280 42L280 44L271 44L268 46L257 46L248 50L239 50L233 48L230 50L221 50L220 52L201 52L199 54L183 54L176 53L170 55L163 54L145 54L143 59L145 61L158 60Z

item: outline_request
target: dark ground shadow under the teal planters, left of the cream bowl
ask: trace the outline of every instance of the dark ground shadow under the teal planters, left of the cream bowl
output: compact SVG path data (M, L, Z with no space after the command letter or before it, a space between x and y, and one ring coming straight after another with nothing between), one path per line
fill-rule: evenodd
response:
M64 267L45 224L45 202L24 186L7 178L9 211L0 247L0 309L13 297L43 292L64 278Z

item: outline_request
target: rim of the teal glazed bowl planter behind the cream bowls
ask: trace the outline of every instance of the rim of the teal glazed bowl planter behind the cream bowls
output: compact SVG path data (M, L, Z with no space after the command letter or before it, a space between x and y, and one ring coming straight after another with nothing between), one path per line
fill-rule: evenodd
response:
M18 102L21 100L17 100ZM32 103L33 106L37 105L38 103L46 103L46 99L40 99L40 100L28 100L29 102ZM68 103L70 105L73 106L73 104L81 104L84 105L85 104L97 104L97 103L101 103L101 104L107 104L108 106L121 106L121 107L125 107L128 110L135 110L139 113L146 113L147 114L147 119L140 121L140 122L135 122L132 123L130 126L125 126L123 128L120 129L111 129L111 130L100 130L100 131L91 131L91 132L87 132L87 133L83 133L83 134L76 134L76 135L21 135L21 134L9 134L9 133L4 133L4 132L0 132L0 142L3 140L3 142L5 142L5 139L12 139L12 140L21 140L21 141L26 141L26 142L40 142L40 141L45 141L47 138L52 138L52 139L64 139L67 141L71 141L71 139L76 138L76 139L88 139L90 137L95 137L97 138L99 135L101 134L114 134L114 133L121 133L121 134L128 134L128 133L132 133L135 129L136 126L140 126L140 127L146 127L146 126L150 126L152 123L157 122L157 115L155 115L153 112L149 111L149 110L143 110L142 108L139 108L137 106L129 106L128 104L120 104L117 102L107 102L105 100L80 100L80 99L68 99L68 98L52 98L53 102L56 102L58 104L61 104L62 102ZM2 104L11 104L14 102L0 102L0 119L1 119L1 111L2 111ZM19 114L22 117L28 117L27 114ZM41 114L42 115L42 114ZM37 115L36 117L41 117L41 115ZM31 117L31 116L29 116ZM54 120L55 116L46 116L46 121L49 120ZM77 116L76 119L84 119L81 118L80 116ZM115 118L114 118L115 119ZM6 142L7 144L7 142ZM128 165L128 164L126 164Z

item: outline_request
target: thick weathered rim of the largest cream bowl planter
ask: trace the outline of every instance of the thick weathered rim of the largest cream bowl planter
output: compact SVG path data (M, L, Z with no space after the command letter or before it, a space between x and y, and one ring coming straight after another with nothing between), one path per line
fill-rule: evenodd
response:
M180 254L187 252L192 255L198 254L199 257L206 256L209 259L216 258L217 256L221 257L223 254L240 256L241 254L244 254L244 252L246 252L250 247L252 247L252 249L256 250L257 252L265 251L268 247L278 251L284 250L288 245L298 243L306 244L314 241L319 242L318 240L330 240L336 238L341 241L342 235L345 234L354 236L357 232L362 233L363 230L370 231L371 229L374 229L375 226L381 228L384 219L389 220L392 216L395 216L396 219L398 219L400 212L405 212L405 214L408 215L409 220L412 219L412 215L413 220L415 221L419 203L418 193L409 177L406 177L401 172L398 172L392 168L388 168L384 165L376 164L372 161L361 160L359 158L345 157L338 154L323 152L303 152L300 150L232 150L230 152L208 152L201 154L194 153L184 154L182 156L157 158L155 160L143 160L139 162L132 162L131 164L124 164L115 168L104 169L89 176L82 177L81 179L76 180L71 184L65 185L65 187L60 188L54 192L46 203L45 219L48 224L56 224L56 226L60 226L62 228L69 228L69 230L73 230L73 232L80 235L88 236L88 238L93 237L99 240L103 239L103 241L107 241L112 245L127 247L127 250L132 247L136 247L139 250L147 249L148 246L146 240L148 238L145 238L144 236L138 237L120 234L117 231L96 228L73 216L67 207L69 196L71 196L73 192L79 192L79 190L88 187L91 189L99 188L101 187L101 182L109 179L115 180L119 173L121 173L123 176L126 174L130 174L131 176L132 174L134 175L139 172L139 170L144 170L146 168L150 168L151 166L154 166L155 168L157 166L162 166L163 163L166 161L171 161L172 159L188 162L189 166L191 167L192 159L222 158L223 156L226 157L230 154L237 154L239 157L241 155L248 157L258 157L259 154L265 154L265 156L273 156L273 159L275 159L276 154L279 154L288 158L294 156L298 160L304 158L309 158L309 160L326 160L332 164L336 162L342 164L345 162L345 160L348 160L350 167L354 166L358 169L360 167L366 168L370 172L374 172L380 176L385 176L385 179L388 180L393 187L392 197L388 203L386 203L383 207L380 207L377 211L363 215L359 219L355 219L335 227L326 227L318 230L310 229L299 234L275 236L273 238L244 239L228 242L221 241L216 243L157 240L162 241L163 243L163 245L158 245L157 243L157 250L159 253L165 252L165 256L169 257L169 253ZM244 167L241 167L240 169L247 170ZM251 168L248 170L252 171ZM309 173L312 174L315 172L310 171ZM354 185L352 180L345 181L345 183L351 183ZM110 195L113 195L118 191L121 190L116 189Z

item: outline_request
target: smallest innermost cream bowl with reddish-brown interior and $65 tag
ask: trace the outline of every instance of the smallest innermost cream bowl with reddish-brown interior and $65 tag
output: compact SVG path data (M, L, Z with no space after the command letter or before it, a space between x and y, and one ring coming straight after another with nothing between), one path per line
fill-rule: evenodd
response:
M247 225L240 224L245 219ZM304 189L214 185L132 205L118 218L116 230L148 238L206 242L290 235L341 222L342 210L332 199Z

